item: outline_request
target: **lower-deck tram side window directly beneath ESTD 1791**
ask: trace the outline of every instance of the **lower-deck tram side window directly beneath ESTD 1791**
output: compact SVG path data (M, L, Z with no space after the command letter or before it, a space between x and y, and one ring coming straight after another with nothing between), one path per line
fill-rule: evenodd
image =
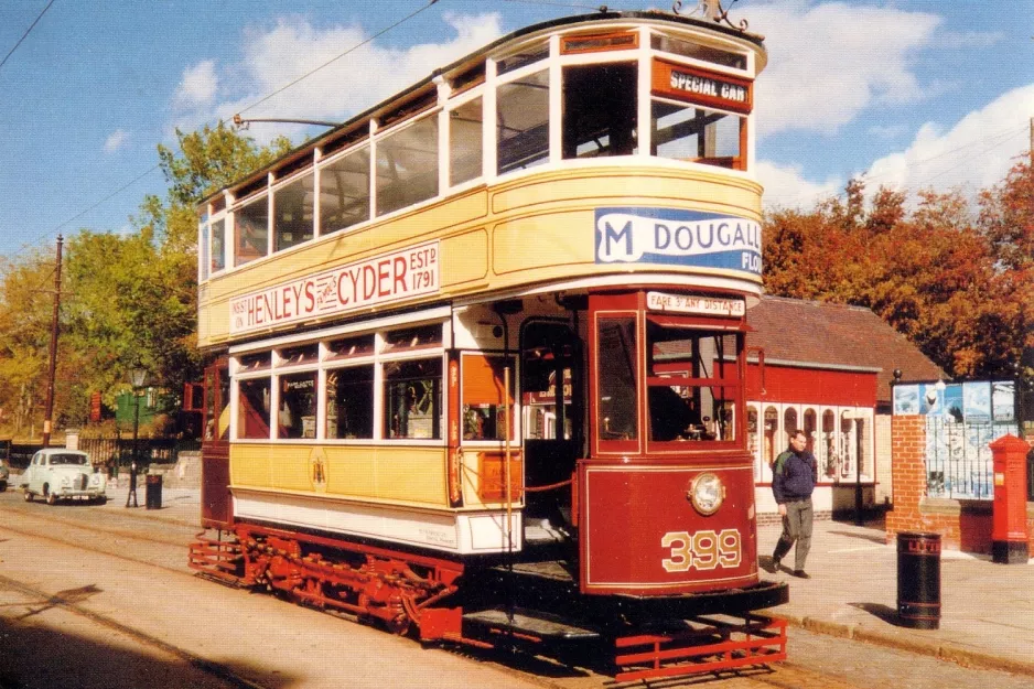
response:
M387 438L441 438L442 359L384 365L384 432Z

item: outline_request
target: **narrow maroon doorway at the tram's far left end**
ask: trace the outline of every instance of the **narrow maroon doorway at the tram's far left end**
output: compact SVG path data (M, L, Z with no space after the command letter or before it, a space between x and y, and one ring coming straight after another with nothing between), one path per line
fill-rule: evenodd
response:
M201 520L233 524L229 494L229 364L220 357L205 369L204 437L201 444Z

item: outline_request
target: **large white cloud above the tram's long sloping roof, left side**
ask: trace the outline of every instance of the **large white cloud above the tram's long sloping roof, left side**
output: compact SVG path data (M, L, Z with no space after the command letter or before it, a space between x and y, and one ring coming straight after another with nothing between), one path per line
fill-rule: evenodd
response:
M295 17L279 19L272 29L249 29L243 36L240 63L224 75L224 83L237 85L236 94L231 99L183 114L177 125L193 128L214 118L229 121L236 112L245 118L344 121L503 33L498 13L445 13L443 19L451 32L440 32L437 42L405 49L386 47L378 41L364 43L369 34L358 25L317 29ZM256 126L251 136L259 141L279 133L297 139L301 130L282 125Z

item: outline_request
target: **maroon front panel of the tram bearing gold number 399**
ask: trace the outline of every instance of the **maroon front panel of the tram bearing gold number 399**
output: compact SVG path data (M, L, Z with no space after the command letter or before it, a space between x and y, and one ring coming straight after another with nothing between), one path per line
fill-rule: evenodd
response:
M725 492L710 516L688 499L704 472ZM585 461L579 488L583 592L659 595L757 582L750 466Z

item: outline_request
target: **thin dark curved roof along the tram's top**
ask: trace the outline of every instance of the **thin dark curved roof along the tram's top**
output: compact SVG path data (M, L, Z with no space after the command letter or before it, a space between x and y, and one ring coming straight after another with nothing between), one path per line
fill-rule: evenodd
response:
M604 8L606 6L604 6ZM763 56L765 55L765 46L764 46L765 37L761 34L750 33L745 30L740 30L740 29L732 28L732 26L724 26L722 24L719 24L717 21L706 21L706 20L692 18L692 17L681 17L679 14L665 12L660 10L645 10L645 11L606 10L606 11L601 11L601 12L596 12L593 14L574 14L571 17L562 17L562 18L549 20L546 22L539 22L537 24L530 24L528 26L518 29L517 31L510 32L506 34L505 36L496 39L492 43L478 49L477 51L473 53L470 53L461 57L460 60L456 60L455 62L452 62L443 67L439 67L434 69L431 74L429 74L423 79L398 91L397 94L394 94L389 98L381 100L377 105L370 108L367 108L366 110L357 115L354 115L349 119L343 121L341 125L337 125L333 129L330 129L323 132L319 137L315 137L314 139L310 139L305 141L304 143L292 149L291 151L288 151L287 153L284 153L283 155L274 160L273 162L269 163L261 170L256 170L251 174L245 177L241 177L240 180L237 180L236 182L227 184L226 186L208 194L207 196L202 198L201 202L198 202L198 205L208 203L212 198L219 196L220 194L223 194L224 192L228 190L248 186L252 184L254 182L258 181L259 179L263 177L266 174L269 173L270 170L284 168L284 166L290 165L293 162L297 162L298 160L304 158L305 155L311 154L312 150L317 148L321 143L336 139L343 132L348 132L352 128L360 125L364 121L368 121L371 117L376 116L378 112L388 110L392 107L397 107L400 101L406 100L407 96L417 94L422 89L429 88L429 86L434 82L434 79L438 76L445 74L448 72L457 69L466 63L474 62L476 57L486 53L491 53L493 50L495 50L496 47L500 45L510 43L526 35L530 35L530 34L535 34L535 33L539 33L543 31L549 31L551 29L559 29L562 26L569 26L569 25L574 25L574 24L580 24L580 23L597 22L601 20L663 21L663 22L672 23L672 24L681 24L685 26L693 26L697 29L706 29L708 31L713 31L713 32L729 35L729 36L736 37L736 39L743 39L751 43L754 43L761 49L761 54ZM761 65L761 67L763 66L764 64ZM761 67L758 67L758 71L761 71Z

